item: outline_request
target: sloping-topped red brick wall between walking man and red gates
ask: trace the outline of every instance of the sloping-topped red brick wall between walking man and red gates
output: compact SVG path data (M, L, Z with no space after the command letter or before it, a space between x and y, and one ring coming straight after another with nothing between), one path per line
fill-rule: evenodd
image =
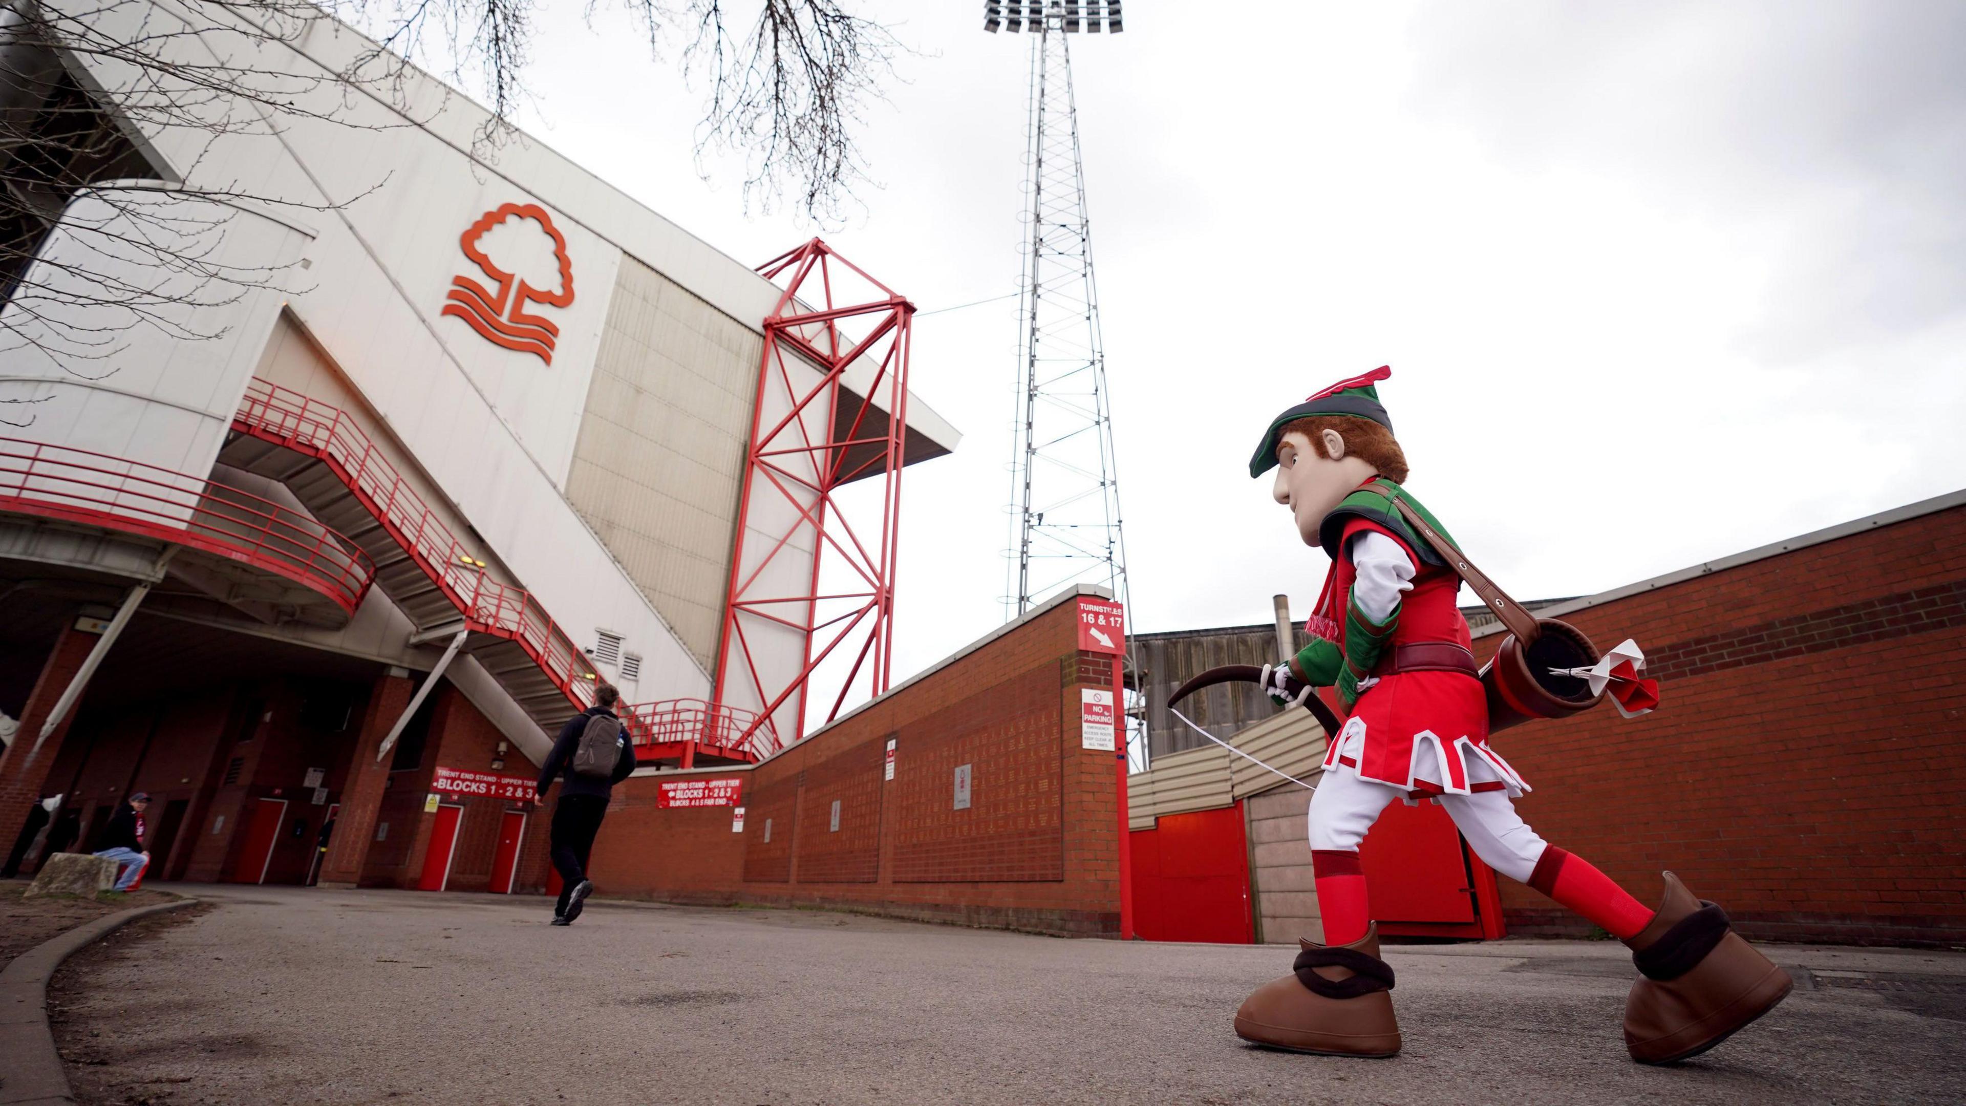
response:
M1115 937L1115 754L1077 726L1079 689L1113 687L1113 667L1077 653L1075 618L1064 602L765 764L710 771L745 779L743 832L729 807L659 809L663 777L629 779L594 846L600 893Z

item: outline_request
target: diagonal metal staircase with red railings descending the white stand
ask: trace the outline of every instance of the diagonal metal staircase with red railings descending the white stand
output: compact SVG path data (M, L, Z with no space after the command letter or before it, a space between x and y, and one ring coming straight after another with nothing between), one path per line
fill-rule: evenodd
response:
M488 579L484 559L450 533L338 407L254 378L218 462L279 480L322 525L354 541L376 565L376 586L409 616L419 638L466 630L464 649L549 736L570 707L594 703L586 653L531 592ZM749 718L731 730L731 718L678 705L623 710L643 760L757 760L749 748L729 744L731 732L751 728ZM694 724L678 726L684 716Z

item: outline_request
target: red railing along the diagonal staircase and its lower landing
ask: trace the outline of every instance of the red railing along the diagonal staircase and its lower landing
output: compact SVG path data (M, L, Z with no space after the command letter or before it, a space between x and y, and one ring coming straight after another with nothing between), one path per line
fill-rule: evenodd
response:
M368 431L344 411L254 378L246 386L246 399L232 415L232 427L326 464L464 614L464 624L474 634L517 642L574 708L584 710L594 703L590 675L594 669L586 653L547 614L539 598L525 588L488 581L474 567L478 559L376 449ZM686 742L682 750L686 758L696 752L729 760L759 756L743 740L725 740L731 732L751 732L749 712L704 707L694 699L643 703L621 712L631 734L649 734L635 738L637 752L645 760L651 760L663 742Z

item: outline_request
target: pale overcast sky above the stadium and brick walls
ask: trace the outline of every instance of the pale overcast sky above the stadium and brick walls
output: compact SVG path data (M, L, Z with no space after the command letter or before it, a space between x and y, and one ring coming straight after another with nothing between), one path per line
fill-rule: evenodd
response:
M824 236L924 313L1014 291L1030 41L865 8L922 55ZM1520 598L1966 488L1966 4L1127 14L1073 65L1138 630L1307 612L1325 559L1244 464L1378 364L1412 490ZM547 144L747 264L816 232L698 177L700 94L625 24L541 24ZM896 677L1001 622L1016 374L1014 301L916 327L965 439L906 472Z

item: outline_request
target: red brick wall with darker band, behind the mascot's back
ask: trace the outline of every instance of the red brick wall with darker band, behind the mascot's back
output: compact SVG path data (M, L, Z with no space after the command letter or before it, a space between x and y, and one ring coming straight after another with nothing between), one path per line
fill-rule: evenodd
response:
M1966 508L1565 620L1636 638L1663 703L1494 738L1543 838L1648 903L1671 868L1754 937L1966 941ZM1583 929L1508 882L1502 905L1514 933Z

